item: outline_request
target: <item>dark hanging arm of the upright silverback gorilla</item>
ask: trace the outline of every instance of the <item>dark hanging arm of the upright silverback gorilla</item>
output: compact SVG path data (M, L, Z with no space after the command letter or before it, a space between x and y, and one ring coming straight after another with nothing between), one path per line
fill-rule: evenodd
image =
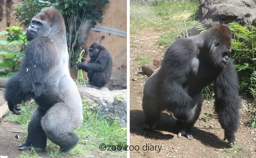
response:
M53 42L47 37L32 40L27 47L20 71L5 85L5 99L9 109L20 115L17 104L42 94L47 72L52 70L57 51L52 50ZM46 55L47 54L47 55Z

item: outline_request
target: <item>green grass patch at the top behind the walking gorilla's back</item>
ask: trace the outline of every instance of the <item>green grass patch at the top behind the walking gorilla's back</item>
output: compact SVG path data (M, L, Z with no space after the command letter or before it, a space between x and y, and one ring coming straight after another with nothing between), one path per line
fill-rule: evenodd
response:
M195 25L198 6L198 1L177 0L145 5L131 3L130 31L136 34L146 29L166 30L156 44L167 47Z

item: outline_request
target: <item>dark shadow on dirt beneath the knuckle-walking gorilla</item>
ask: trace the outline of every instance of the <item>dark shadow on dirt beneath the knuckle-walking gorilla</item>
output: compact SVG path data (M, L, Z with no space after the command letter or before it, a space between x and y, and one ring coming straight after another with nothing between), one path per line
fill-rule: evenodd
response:
M131 110L130 111L130 132L132 134L141 135L145 138L155 138L159 140L168 140L177 137L174 131L175 121L173 121L172 116L167 113L161 113L160 122L156 125L155 130L146 131L142 128L144 122L144 114L141 110ZM162 131L170 132L170 134L163 134ZM211 132L204 131L197 128L192 128L193 137L207 146L212 146L214 148L230 148L227 142L224 142L216 135ZM224 133L223 133L224 137ZM180 139L187 139L186 137L181 137ZM190 140L188 140L190 141ZM212 143L209 143L212 142Z

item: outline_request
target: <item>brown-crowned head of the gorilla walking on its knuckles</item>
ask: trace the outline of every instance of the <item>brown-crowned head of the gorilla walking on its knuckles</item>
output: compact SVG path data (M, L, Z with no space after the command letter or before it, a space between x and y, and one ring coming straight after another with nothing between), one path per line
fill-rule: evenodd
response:
M231 30L226 26L215 26L204 33L207 53L206 61L213 67L224 68L228 64L228 54L231 52Z

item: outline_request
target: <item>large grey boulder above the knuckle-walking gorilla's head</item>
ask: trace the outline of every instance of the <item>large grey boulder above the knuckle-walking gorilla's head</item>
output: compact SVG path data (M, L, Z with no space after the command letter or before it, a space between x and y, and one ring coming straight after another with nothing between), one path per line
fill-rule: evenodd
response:
M256 4L252 0L201 0L197 18L207 28L230 22L255 26Z

